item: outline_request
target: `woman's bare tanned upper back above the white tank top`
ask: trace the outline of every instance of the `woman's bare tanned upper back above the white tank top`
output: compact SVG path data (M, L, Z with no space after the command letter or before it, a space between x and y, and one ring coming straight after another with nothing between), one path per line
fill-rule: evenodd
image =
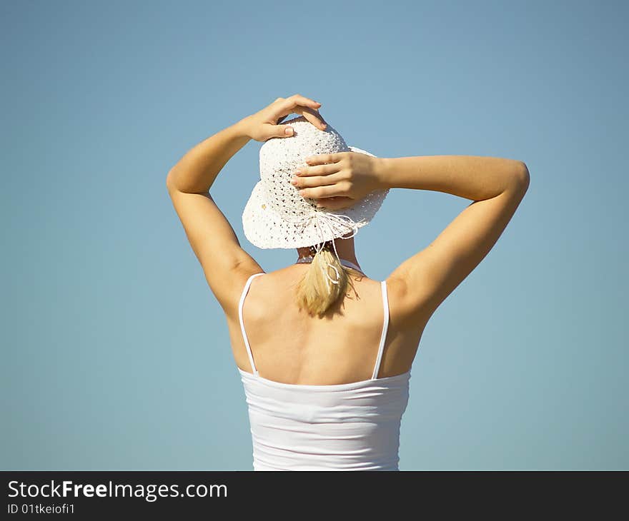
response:
M345 297L323 318L309 317L294 301L294 285L307 265L255 277L244 299L242 318L259 375L290 384L331 385L372 377L384 325L382 286L352 277ZM242 291L244 288L240 288ZM398 285L387 280L389 321L377 378L410 370L425 321L402 326L396 307ZM229 321L237 366L252 372L239 322Z

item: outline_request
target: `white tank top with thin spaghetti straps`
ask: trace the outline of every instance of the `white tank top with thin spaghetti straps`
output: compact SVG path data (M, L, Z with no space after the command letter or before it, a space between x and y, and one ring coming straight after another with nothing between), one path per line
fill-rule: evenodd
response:
M242 320L254 273L238 315L254 373L238 368L249 410L254 470L399 470L400 423L410 371L377 378L387 338L389 305L382 280L384 325L370 380L334 385L281 383L262 378Z

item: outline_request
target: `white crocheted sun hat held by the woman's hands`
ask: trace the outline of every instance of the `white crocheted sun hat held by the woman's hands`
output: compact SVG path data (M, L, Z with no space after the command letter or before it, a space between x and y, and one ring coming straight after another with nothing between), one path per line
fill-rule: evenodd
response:
M334 238L350 238L370 223L389 190L368 193L350 208L317 208L317 201L299 195L292 174L308 166L305 159L321 153L372 153L347 146L330 124L325 131L303 116L282 122L292 136L270 138L260 148L260 180L242 213L244 235L258 248L306 248ZM347 233L352 235L347 236Z

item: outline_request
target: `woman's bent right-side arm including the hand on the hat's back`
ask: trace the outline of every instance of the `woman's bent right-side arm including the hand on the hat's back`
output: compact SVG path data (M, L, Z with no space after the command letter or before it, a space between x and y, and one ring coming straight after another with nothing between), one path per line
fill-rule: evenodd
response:
M331 210L353 206L377 189L410 188L472 200L430 246L398 266L387 283L399 296L400 320L420 324L480 263L504 231L530 182L522 161L484 156L376 158L341 152L307 158L293 184ZM412 221L412 219L411 219ZM414 226L400 226L412 240Z

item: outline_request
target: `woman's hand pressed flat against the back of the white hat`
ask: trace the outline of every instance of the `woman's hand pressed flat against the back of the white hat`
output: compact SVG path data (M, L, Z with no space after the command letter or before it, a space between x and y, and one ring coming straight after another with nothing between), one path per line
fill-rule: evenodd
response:
M299 195L317 199L317 207L340 210L354 206L368 193L383 188L380 158L358 152L324 153L306 158L309 166L295 171L291 183Z

